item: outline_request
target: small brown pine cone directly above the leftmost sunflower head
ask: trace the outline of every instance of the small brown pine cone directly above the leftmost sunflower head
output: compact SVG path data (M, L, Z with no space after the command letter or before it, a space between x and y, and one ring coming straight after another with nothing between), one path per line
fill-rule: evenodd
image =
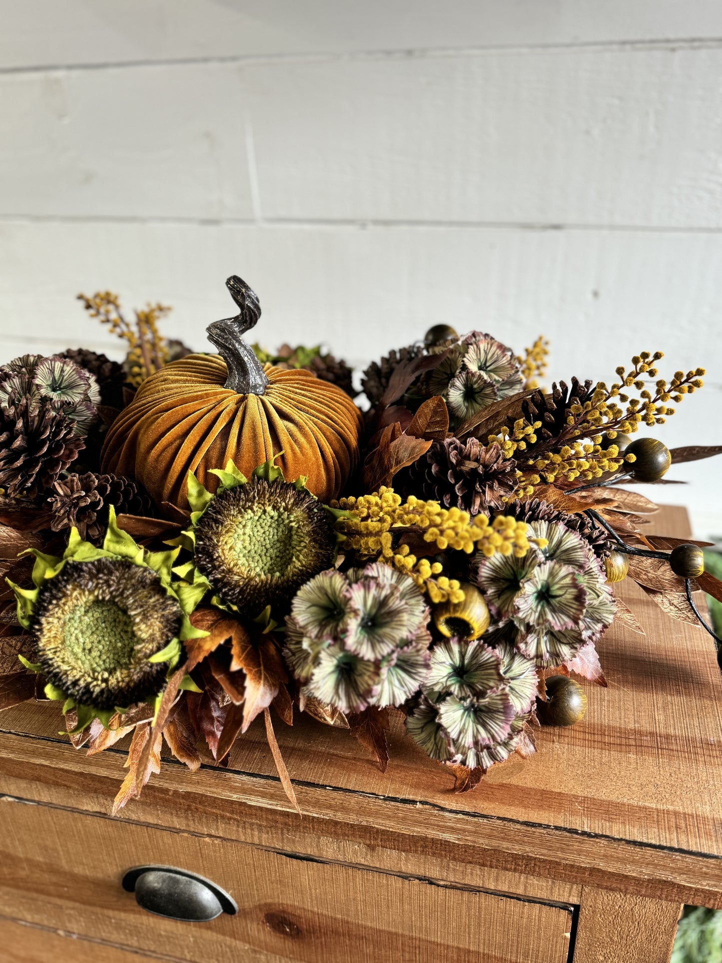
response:
M147 515L150 498L137 481L117 475L68 475L56 481L55 495L49 499L53 511L51 527L63 532L72 526L81 538L100 544L108 524L108 508L116 514Z

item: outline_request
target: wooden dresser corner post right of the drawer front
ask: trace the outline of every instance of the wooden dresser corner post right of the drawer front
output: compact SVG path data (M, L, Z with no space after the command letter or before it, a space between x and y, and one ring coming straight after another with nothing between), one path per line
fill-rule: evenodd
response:
M679 903L584 887L574 963L668 963L681 912Z

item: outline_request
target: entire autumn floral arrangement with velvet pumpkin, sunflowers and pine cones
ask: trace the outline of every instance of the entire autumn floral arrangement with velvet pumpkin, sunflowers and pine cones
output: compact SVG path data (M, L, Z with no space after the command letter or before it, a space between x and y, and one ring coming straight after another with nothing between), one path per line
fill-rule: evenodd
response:
M249 345L258 299L226 283L218 354L105 292L82 300L123 364L0 367L0 709L57 700L90 754L130 735L116 809L164 741L227 766L256 716L296 804L271 709L347 729L381 768L396 713L471 789L533 752L539 721L583 716L572 675L606 686L596 643L615 618L644 631L615 583L712 633L702 543L643 534L656 506L633 488L722 452L632 438L702 369L663 379L640 351L613 383L544 390L543 339L520 356L435 325L367 368L362 411L343 360Z

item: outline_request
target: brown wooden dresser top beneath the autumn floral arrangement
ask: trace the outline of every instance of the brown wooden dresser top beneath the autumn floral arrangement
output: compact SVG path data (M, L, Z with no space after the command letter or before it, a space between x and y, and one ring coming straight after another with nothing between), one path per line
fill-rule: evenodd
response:
M682 509L660 515L658 531L685 533ZM492 769L474 793L451 794L451 778L399 726L382 775L348 734L298 720L276 729L309 822L289 812L255 726L229 770L191 774L165 764L122 819L190 823L262 846L288 834L290 849L337 847L335 858L349 864L374 865L376 848L378 865L393 865L395 852L422 865L431 854L451 858L462 876L467 862L480 875L486 867L722 906L722 684L711 641L663 616L635 586L622 595L647 635L622 625L607 633L600 654L609 688L587 686L579 725L542 730L534 757ZM0 791L110 810L122 753L89 759L64 745L53 735L53 707L10 710L0 726Z

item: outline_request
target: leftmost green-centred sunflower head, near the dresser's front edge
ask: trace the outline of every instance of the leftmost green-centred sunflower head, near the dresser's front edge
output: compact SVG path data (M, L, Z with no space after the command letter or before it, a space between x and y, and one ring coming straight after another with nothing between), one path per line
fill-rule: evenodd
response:
M15 586L18 619L34 638L46 694L76 707L79 727L97 716L157 699L182 641L194 638L197 593L171 581L178 549L145 552L116 526L102 548L70 534L63 558L36 557L34 588Z

